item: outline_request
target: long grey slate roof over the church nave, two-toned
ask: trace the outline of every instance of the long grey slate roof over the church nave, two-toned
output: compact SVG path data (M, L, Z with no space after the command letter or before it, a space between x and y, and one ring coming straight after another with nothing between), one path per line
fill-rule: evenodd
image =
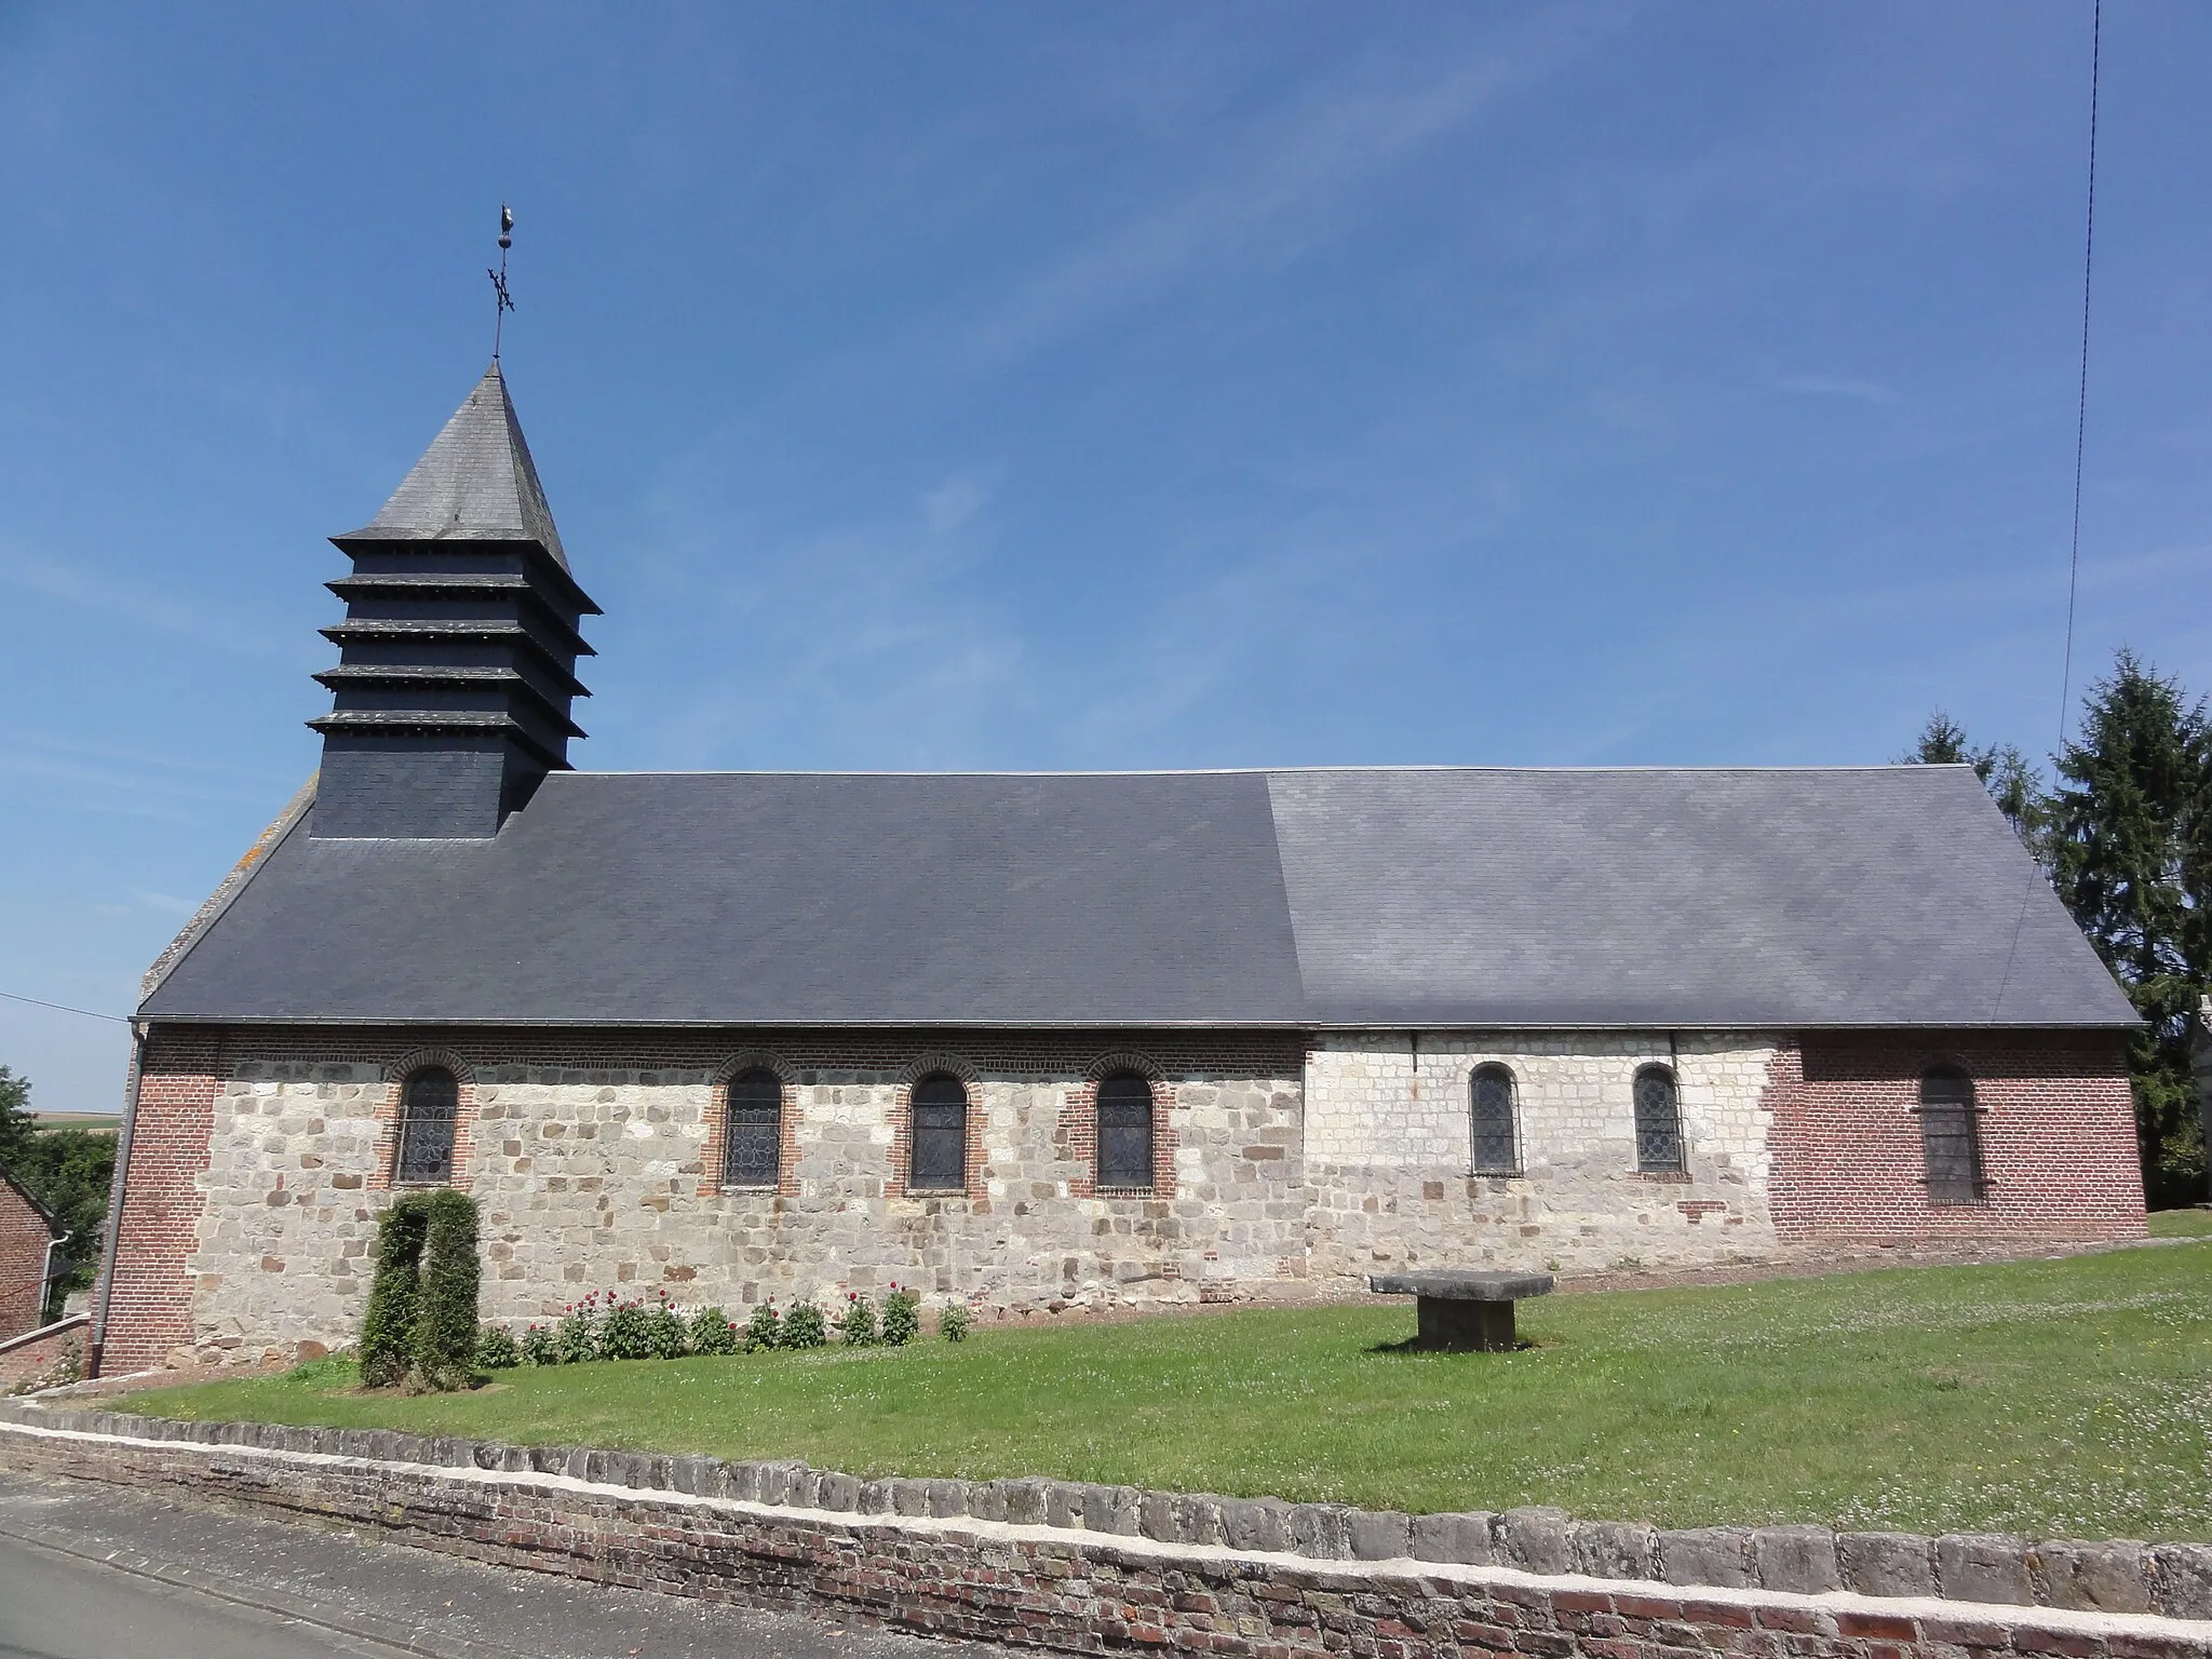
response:
M2135 1022L1966 768L562 772L489 841L310 821L144 1015Z

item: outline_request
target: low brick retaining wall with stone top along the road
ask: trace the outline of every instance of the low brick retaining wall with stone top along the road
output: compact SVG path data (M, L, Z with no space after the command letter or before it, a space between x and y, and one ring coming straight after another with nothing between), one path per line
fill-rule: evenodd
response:
M1064 1652L2212 1655L2212 1551L2190 1544L2024 1553L2017 1540L1820 1528L1652 1533L1577 1524L1555 1511L1405 1517L1044 1480L863 1482L803 1462L723 1464L91 1411L0 1420L0 1464L376 1526L400 1542L599 1584L823 1608ZM1206 1537L1214 1542L1197 1542ZM1677 1557L1663 1540L1703 1540L1705 1555ZM1294 1544L1336 1559L1292 1553ZM1528 1571L1498 1559L1500 1548L1511 1559L1551 1551L1566 1571ZM1637 1548L1648 1559L1672 1557L1677 1568L1734 1573L1734 1582L1679 1586L1606 1573ZM1482 1559L1451 1559L1471 1553ZM1354 1555L1380 1559L1347 1559ZM1924 1593L1772 1588L1792 1575L1832 1582L1838 1573ZM2044 1593L2070 1606L1938 1599L1929 1590ZM2135 1604L2150 1610L2117 1610Z

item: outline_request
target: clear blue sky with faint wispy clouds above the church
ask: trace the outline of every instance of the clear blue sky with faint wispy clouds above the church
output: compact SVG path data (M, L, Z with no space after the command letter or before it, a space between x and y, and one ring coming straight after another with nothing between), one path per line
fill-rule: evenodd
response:
M0 989L126 1011L314 768L502 197L584 768L2046 752L2088 24L0 7ZM2108 4L2077 664L2199 690L2208 82Z

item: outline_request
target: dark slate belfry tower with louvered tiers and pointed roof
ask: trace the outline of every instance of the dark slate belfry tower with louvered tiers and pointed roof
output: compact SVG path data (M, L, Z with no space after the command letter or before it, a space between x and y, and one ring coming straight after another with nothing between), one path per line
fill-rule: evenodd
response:
M358 531L323 628L316 836L498 834L546 772L568 770L571 701L599 606L568 573L538 467L493 363L414 471Z

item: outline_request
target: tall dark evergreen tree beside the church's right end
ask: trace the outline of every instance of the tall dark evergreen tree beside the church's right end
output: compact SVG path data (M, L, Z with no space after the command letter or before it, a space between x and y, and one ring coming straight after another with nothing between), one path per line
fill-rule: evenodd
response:
M2190 1013L2208 980L2203 703L2121 650L2090 686L2057 759L2046 860L2053 885L2148 1029L2132 1040L2135 1121L2152 1208L2203 1190Z

